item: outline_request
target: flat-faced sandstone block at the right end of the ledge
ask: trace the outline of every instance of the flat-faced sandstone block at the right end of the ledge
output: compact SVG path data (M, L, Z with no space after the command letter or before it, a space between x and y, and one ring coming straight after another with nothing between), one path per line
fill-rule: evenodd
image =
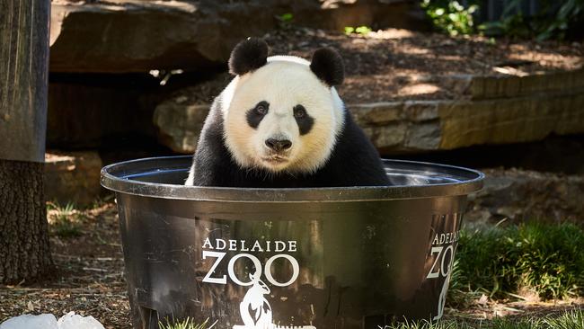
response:
M441 102L438 149L584 133L584 93Z

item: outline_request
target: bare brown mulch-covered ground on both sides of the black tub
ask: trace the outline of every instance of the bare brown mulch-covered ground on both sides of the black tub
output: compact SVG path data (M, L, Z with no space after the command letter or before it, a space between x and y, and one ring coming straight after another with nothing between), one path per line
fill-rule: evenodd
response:
M70 211L67 217L76 228L59 228L57 210L49 210L48 216L58 275L32 285L0 286L0 322L24 313L62 316L75 311L95 317L106 328L130 328L115 203L110 199L92 209ZM495 316L543 316L581 307L582 299L492 301L476 296L470 307L447 307L445 314L480 323Z

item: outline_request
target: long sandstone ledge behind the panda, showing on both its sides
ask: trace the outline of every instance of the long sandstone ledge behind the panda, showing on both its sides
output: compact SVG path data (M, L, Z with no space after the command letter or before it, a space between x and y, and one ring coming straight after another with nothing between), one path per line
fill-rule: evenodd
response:
M389 155L584 133L584 93L572 92L348 106L375 146ZM192 153L208 111L208 105L201 105L201 98L192 94L193 89L175 93L155 113L164 145L180 153Z

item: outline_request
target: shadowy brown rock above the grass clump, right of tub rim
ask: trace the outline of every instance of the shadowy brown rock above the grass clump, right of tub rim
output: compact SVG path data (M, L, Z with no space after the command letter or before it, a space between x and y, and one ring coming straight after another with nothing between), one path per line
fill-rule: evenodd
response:
M582 222L584 175L489 169L482 191L469 198L465 220Z

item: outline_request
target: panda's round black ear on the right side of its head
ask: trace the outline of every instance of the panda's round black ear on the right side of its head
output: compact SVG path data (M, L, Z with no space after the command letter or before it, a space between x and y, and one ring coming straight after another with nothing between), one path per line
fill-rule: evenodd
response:
M340 85L345 78L341 55L334 49L322 48L314 51L310 69L329 86Z

